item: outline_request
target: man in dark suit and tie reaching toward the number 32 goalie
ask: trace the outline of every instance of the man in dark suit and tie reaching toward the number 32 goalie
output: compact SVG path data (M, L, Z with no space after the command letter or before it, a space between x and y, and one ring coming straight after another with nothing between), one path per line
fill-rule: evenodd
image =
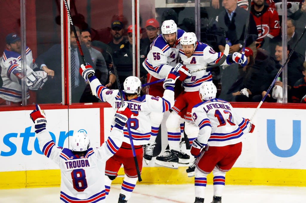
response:
M76 27L76 34L80 39L80 29ZM85 89L84 79L79 74L79 67L83 63L78 52L76 37L72 28L70 29L70 46L71 46L71 101L72 103L80 102L80 97ZM85 61L95 68L90 53L85 45L81 45ZM44 89L37 94L37 103L61 103L62 102L62 52L61 45L53 45L47 52L36 58L36 63L43 69L47 66L54 70L54 77L47 80Z

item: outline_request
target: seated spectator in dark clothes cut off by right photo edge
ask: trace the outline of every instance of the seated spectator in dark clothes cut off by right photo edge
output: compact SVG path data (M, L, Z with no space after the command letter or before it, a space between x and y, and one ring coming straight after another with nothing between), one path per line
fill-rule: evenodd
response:
M303 71L304 77L294 84L292 88L292 102L293 103L300 103L301 99L306 94L306 62L303 63Z

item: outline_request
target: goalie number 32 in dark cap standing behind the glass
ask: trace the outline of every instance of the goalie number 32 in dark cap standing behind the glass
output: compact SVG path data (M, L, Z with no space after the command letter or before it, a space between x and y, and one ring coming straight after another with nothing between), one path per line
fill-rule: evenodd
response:
M3 85L0 88L0 105L21 104L21 39L11 33L6 36L6 49L1 57L1 77ZM26 98L30 98L28 89L38 90L47 81L47 73L33 71L33 57L30 48L26 47Z

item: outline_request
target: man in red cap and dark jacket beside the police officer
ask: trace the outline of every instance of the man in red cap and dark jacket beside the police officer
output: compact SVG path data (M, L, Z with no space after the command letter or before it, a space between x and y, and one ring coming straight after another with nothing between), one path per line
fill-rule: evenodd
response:
M132 25L127 29L128 41L121 45L120 50L114 52L114 63L117 67L118 77L121 84L123 84L125 78L133 75L133 50L132 50ZM140 38L142 37L140 28ZM140 64L144 62L146 55L146 49L143 49L140 42ZM147 74L147 71L143 66L140 66L140 77Z

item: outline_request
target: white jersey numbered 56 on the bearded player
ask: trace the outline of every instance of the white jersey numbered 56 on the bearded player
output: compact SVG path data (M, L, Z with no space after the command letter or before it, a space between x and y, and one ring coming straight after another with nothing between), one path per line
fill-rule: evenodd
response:
M151 50L144 60L143 66L153 77L164 79L170 70L177 65L180 60L178 57L180 41L184 32L184 30L177 30L177 39L173 47L168 45L162 34L152 42Z

